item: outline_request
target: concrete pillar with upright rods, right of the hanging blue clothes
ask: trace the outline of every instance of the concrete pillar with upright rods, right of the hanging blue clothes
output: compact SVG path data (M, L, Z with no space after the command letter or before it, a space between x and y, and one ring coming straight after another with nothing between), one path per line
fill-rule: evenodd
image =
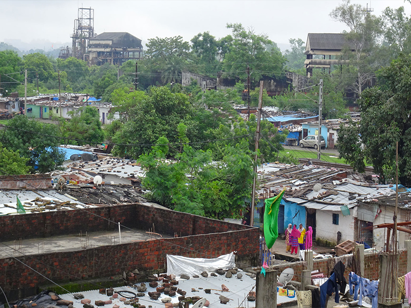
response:
M378 284L378 307L379 308L401 308L398 301L398 263L400 255L381 253L380 258L380 282ZM397 259L397 260L396 260ZM397 267L393 263L397 261ZM394 281L394 284L393 284Z

